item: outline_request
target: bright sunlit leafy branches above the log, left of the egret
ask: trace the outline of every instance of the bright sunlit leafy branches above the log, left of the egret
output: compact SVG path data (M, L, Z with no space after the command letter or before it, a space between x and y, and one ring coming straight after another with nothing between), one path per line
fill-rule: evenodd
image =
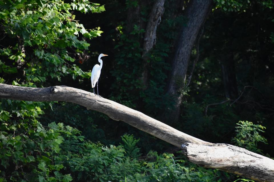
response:
M0 4L0 18L3 19L4 31L11 38L18 40L16 46L10 45L9 48L0 49L0 54L16 62L25 61L22 65L28 81L44 82L49 76L61 80L65 75L75 74L69 65L66 71L62 68L67 61L75 60L74 53L68 53L67 49L88 49L90 44L85 40L78 40L79 32L89 39L102 33L100 27L85 29L72 14L72 9L83 13L105 11L104 6L87 0L74 0L70 4L63 0L4 0ZM18 51L13 53L11 49ZM2 62L5 64L4 60ZM0 71L16 73L14 68L8 67ZM75 78L83 75L72 76Z

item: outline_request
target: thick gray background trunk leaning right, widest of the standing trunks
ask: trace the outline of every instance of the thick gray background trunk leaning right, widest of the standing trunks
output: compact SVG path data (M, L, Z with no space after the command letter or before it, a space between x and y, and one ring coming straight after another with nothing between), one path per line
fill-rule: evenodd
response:
M175 107L170 109L168 120L176 122L179 119L183 98L182 90L185 85L191 51L200 28L211 11L212 3L213 0L193 0L186 8L185 16L188 18L188 22L180 32L178 45L172 61L170 83L168 84L168 94L175 98Z

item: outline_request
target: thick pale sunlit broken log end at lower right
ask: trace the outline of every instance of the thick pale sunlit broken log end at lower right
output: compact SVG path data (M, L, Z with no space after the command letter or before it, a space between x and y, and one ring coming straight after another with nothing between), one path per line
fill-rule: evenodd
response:
M274 160L265 156L222 143L184 143L182 148L188 159L195 164L232 172L255 181L274 182Z

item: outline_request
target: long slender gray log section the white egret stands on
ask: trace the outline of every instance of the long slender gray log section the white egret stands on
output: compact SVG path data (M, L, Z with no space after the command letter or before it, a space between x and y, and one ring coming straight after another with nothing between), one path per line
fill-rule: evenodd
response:
M198 138L178 131L139 111L100 98L93 93L68 86L48 88L30 88L0 84L0 98L27 101L67 101L82 105L88 109L102 112L117 121L124 121L146 133L180 147L183 142L210 144Z

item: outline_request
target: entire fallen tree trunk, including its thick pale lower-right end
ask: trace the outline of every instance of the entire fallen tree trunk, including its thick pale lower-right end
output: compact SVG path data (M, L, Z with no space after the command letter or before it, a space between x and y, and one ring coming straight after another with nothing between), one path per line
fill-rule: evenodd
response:
M25 101L67 101L105 113L142 131L181 147L189 160L257 181L274 182L274 160L228 144L213 144L178 131L139 111L67 86L30 88L0 84L0 98Z

